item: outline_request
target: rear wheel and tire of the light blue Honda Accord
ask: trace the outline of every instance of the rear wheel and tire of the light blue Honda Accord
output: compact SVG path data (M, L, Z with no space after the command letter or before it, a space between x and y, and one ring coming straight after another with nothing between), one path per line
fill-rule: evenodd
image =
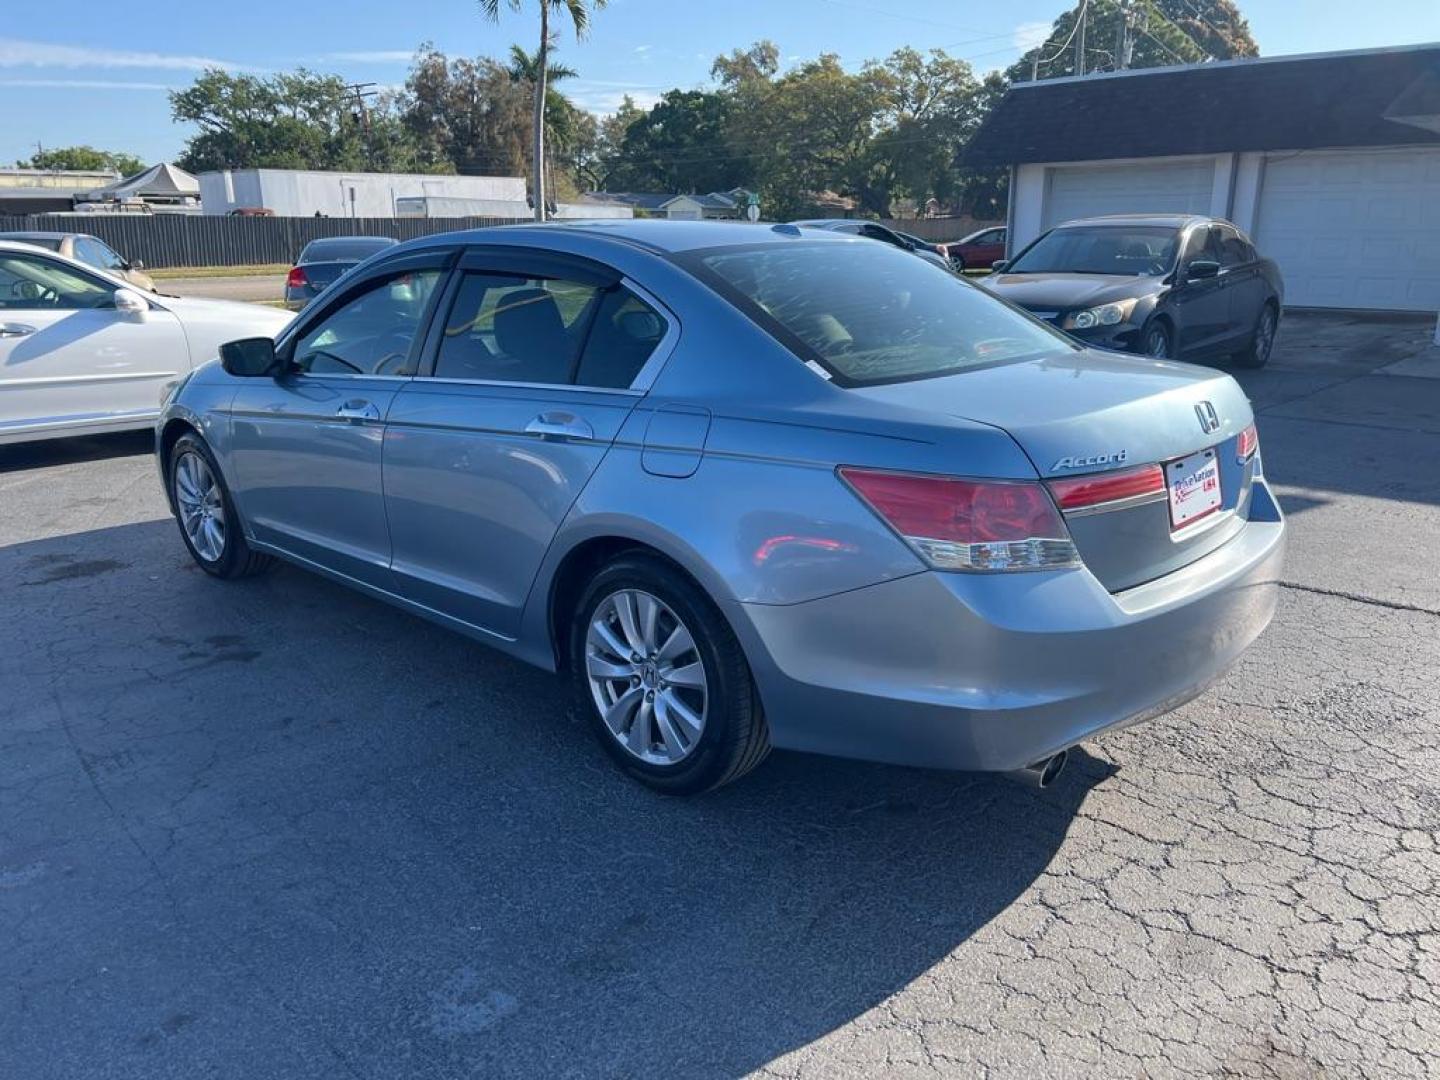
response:
M570 670L600 746L657 792L713 791L770 750L734 631L693 580L661 559L624 554L590 579L570 625Z

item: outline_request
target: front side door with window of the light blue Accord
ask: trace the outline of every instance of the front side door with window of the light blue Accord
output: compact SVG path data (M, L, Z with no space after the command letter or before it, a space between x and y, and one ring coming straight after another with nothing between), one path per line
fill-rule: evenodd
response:
M256 540L389 590L384 419L415 372L444 252L376 266L281 346L289 372L242 382L232 487Z

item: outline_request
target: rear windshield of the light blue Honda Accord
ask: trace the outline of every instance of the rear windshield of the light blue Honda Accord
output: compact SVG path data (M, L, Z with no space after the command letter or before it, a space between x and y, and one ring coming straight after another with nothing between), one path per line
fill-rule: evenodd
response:
M716 248L685 262L841 386L929 379L1077 347L955 274L884 243Z

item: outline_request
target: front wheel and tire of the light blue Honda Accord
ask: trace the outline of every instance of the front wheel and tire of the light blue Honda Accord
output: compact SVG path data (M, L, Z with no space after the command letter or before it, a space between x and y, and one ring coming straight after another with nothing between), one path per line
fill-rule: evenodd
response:
M274 560L245 541L235 501L204 439L193 433L176 439L166 484L180 539L202 570L232 580L269 569Z

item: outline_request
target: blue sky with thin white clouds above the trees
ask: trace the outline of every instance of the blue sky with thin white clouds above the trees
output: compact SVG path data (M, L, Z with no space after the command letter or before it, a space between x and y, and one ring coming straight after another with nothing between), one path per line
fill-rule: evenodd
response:
M1440 40L1440 0L1240 0L1266 55ZM7 4L0 20L0 163L88 143L148 161L174 157L187 130L173 124L167 88L209 63L281 71L305 65L347 79L399 84L422 40L449 53L531 46L533 4L498 26L474 0L246 0L202 3L176 16L120 14L124 4ZM611 0L563 59L582 79L567 92L609 111L621 95L654 101L708 79L720 52L769 37L788 60L835 52L847 66L901 45L945 48L978 71L1005 66L1043 35L1061 0L724 0L714 4ZM1303 17L1300 13L1303 12Z

